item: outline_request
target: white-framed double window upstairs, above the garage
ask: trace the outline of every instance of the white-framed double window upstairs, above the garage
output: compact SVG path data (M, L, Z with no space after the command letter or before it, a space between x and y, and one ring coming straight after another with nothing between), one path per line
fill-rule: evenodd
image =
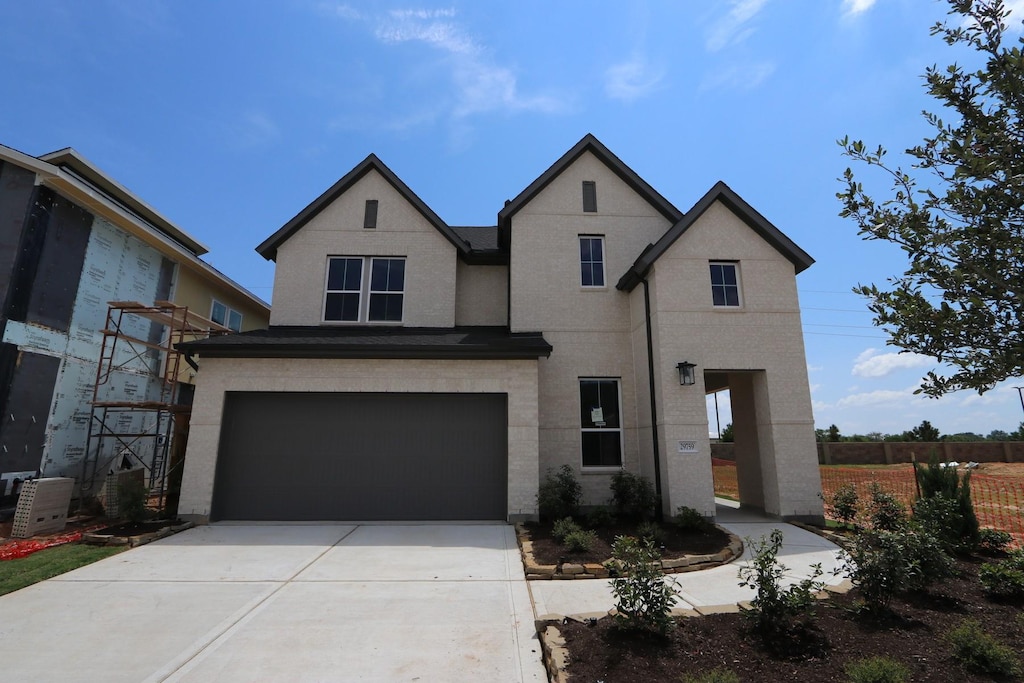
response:
M328 258L325 323L401 323L404 298L404 258Z

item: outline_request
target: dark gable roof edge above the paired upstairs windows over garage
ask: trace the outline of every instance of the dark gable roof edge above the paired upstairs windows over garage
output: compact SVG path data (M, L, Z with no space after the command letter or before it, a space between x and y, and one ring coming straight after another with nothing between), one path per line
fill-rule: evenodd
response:
M437 231L443 234L444 238L451 242L457 250L459 250L460 256L465 258L469 255L469 244L456 234L455 230L449 227L447 223L441 220L440 217L423 202L423 200L416 196L416 193L409 188L409 185L402 182L391 169L385 166L384 162L377 158L377 155L373 154L364 159L355 168L342 176L338 182L331 185L327 191L313 200L312 203L305 209L300 211L294 218L285 223L280 230L264 240L260 246L256 247L256 251L260 256L268 261L275 260L278 258L278 248L281 245L287 242L293 234L298 232L303 225L312 220L332 202L344 195L370 171L377 171L380 173L381 176L387 180L391 186L406 199L407 202L412 204L413 207L427 219L427 222L437 228Z

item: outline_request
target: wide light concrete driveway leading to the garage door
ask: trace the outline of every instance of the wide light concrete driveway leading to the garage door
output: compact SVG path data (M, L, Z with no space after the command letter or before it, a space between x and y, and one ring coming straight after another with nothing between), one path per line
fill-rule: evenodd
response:
M547 680L505 524L215 524L0 597L11 681Z

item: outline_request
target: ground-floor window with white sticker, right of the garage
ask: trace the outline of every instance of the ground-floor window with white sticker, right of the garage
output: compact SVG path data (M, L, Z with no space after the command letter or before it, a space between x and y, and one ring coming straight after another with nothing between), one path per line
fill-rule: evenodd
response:
M623 466L618 380L580 380L580 425L584 467Z

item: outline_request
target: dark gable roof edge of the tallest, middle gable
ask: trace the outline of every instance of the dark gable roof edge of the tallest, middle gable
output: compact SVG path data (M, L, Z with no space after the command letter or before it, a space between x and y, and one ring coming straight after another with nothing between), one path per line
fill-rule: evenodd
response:
M587 152L597 157L612 173L617 175L627 185L632 187L634 191L657 209L658 213L670 221L676 222L682 218L682 212L673 206L669 200L662 197L656 189L647 184L646 180L624 164L618 157L611 154L611 151L594 137L593 133L587 133L571 150L562 155L561 159L552 164L537 180L529 183L525 189L519 193L514 200L506 202L505 207L498 212L498 243L502 249L508 251L511 244L512 216Z

